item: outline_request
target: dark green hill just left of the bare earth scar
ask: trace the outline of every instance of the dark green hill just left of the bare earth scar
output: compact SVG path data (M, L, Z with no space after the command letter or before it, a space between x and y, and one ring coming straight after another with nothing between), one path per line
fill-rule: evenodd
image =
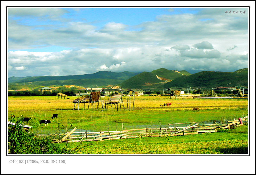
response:
M122 88L143 88L146 85L163 82L150 72L142 72L118 84Z

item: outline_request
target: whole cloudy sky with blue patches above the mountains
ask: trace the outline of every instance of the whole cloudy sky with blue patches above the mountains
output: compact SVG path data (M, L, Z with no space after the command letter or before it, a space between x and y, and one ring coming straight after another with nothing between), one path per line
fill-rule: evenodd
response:
M8 77L248 68L247 8L8 8Z

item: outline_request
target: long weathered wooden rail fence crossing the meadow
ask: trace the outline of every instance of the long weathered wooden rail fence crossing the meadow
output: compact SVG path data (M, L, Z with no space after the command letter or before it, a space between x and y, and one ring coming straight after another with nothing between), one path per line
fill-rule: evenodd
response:
M212 133L216 132L217 129L236 129L248 122L248 116L228 121L225 124L198 124L197 122L190 123L173 123L168 124L167 127L162 128L161 124L159 128L141 128L141 129L122 129L121 131L72 131L62 134L45 134L45 135L60 135L64 137L62 139L53 139L55 142L82 142L82 141L104 141L114 139L130 139L130 138L141 138L141 137L173 137L189 134L200 134L200 133ZM123 128L123 125L122 125ZM41 134L42 135L42 134Z

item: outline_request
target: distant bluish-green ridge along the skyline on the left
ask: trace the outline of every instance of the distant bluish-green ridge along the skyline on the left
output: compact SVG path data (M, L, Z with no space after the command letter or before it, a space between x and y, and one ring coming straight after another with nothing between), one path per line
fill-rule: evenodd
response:
M79 80L79 79L115 79L115 80L127 80L128 78L135 76L139 73L134 72L109 72L99 71L93 74L74 75L74 76L31 76L31 77L10 77L8 83L14 82L35 82L35 81L52 81L52 80Z

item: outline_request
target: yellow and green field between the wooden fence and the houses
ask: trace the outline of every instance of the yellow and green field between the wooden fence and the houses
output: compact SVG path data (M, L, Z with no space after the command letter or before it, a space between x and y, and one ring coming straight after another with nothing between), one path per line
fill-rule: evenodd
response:
M41 119L49 119L52 114L59 114L59 120L64 123L62 128L68 127L68 123L81 127L81 129L97 130L116 130L120 128L120 123L124 123L127 129L140 128L158 125L159 121L163 125L167 123L182 122L204 122L208 120L232 120L248 114L248 99L169 99L166 96L136 96L134 110L112 111L102 109L99 111L89 110L72 111L74 104L72 101L77 97L58 100L55 97L9 97L8 116L23 115ZM127 106L124 96L124 107ZM131 97L133 100L133 97ZM160 104L171 102L171 106L160 107ZM200 111L192 111L194 107L199 107ZM83 126L83 127L82 127ZM47 130L56 130L57 121L51 123ZM44 131L44 130L43 130Z

